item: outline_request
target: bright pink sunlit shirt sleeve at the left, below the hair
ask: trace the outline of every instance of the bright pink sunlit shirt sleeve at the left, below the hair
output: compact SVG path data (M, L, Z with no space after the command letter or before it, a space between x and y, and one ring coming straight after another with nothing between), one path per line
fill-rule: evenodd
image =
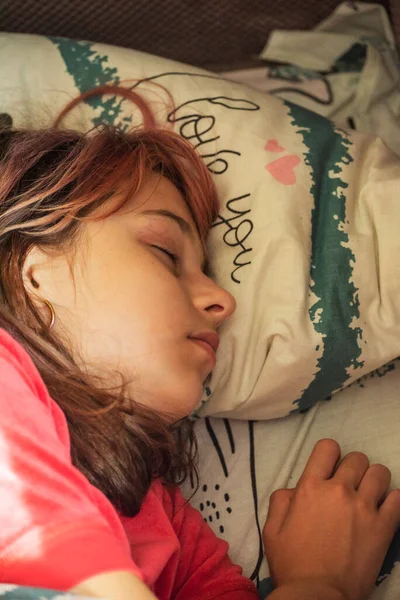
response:
M113 507L71 463L63 413L4 332L0 491L1 582L63 591L106 571L141 577Z

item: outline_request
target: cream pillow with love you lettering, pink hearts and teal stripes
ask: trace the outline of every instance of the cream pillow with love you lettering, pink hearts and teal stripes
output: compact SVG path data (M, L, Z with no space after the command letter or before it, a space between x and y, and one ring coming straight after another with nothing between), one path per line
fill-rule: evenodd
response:
M0 38L0 106L14 127L49 124L81 92L131 80L213 173L211 267L237 311L221 329L200 415L303 411L400 354L400 162L379 139L129 49ZM128 101L101 97L64 124L137 119Z

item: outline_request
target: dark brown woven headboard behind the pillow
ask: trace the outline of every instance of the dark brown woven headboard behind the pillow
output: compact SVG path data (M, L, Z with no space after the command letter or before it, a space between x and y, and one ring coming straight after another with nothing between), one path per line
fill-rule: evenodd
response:
M400 1L380 1L400 33ZM106 42L224 70L256 64L271 30L309 29L339 3L340 0L1 0L0 28Z

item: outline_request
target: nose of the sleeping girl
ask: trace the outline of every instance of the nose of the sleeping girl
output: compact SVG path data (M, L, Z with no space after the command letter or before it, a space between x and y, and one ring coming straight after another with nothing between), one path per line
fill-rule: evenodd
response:
M236 300L232 294L206 275L193 298L197 310L206 313L215 328L232 316L236 310Z

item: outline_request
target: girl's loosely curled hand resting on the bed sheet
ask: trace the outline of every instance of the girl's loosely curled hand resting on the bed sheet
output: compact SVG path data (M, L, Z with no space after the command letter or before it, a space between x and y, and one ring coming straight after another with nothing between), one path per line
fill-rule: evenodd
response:
M317 591L310 598L346 600L372 591L400 524L400 490L386 496L390 471L365 454L351 452L337 466L339 459L339 445L320 440L296 488L271 496L263 540L278 589L299 585Z

